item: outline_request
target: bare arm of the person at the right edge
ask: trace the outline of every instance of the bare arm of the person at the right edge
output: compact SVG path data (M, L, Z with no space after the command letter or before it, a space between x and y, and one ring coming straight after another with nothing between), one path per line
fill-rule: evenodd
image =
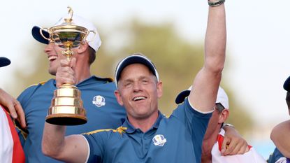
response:
M280 150L284 157L290 158L290 120L284 121L275 126L270 134L270 139Z

